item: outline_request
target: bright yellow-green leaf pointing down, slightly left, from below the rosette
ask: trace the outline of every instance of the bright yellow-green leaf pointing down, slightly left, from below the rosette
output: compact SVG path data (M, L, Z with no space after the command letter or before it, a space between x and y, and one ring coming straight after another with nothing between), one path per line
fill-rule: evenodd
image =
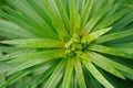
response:
M71 77L73 73L73 64L74 64L73 58L68 58L68 64L65 67L65 73L62 81L62 88L70 88Z

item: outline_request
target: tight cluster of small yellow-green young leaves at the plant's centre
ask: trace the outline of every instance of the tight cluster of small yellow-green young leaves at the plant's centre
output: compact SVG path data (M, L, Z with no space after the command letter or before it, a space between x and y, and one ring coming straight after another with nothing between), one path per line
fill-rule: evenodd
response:
M73 34L71 40L65 43L65 55L69 57L82 58L86 52L88 45L89 42L85 40L85 37Z

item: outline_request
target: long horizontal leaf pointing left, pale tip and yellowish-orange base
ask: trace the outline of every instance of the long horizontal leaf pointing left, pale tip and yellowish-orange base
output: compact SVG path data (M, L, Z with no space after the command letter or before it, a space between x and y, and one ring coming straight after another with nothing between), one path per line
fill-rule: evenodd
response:
M0 43L16 45L17 47L63 47L64 44L51 38L28 38L1 41Z

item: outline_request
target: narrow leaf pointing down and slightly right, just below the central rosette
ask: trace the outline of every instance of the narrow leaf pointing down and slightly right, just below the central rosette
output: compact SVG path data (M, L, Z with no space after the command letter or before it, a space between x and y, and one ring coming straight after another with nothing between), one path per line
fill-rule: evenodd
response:
M75 68L75 75L76 75L78 84L80 88L86 88L81 62L79 59L74 61L74 68Z

